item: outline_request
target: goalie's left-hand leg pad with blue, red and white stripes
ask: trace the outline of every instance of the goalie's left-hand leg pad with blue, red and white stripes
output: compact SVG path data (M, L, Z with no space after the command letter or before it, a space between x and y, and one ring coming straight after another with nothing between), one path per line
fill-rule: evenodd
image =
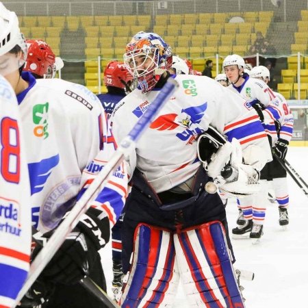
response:
M171 308L179 285L172 234L167 229L138 224L134 242L121 306Z

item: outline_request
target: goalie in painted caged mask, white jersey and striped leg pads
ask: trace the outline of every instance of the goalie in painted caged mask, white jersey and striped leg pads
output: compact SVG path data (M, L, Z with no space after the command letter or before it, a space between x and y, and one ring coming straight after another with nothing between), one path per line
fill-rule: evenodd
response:
M112 114L116 142L142 116L146 108L140 106L150 105L170 77L170 46L157 34L136 35L127 44L125 65L139 87ZM232 248L224 205L217 193L205 191L205 184L213 184L207 183L209 176L218 176L235 144L238 151L234 155L240 155L242 144L247 165L240 155L241 180L224 183L220 189L231 194L251 192L257 185L257 171L248 163L257 162L255 167L261 170L271 159L266 133L253 108L216 81L192 75L173 77L179 88L146 130L136 151L126 157L132 188L122 228L123 272L127 275L120 303L122 307L172 307L181 273L190 305L244 307L231 266L234 259L229 254ZM196 139L203 132L198 151ZM222 135L233 140L233 145ZM229 150L219 144L227 144ZM218 148L221 151L212 155ZM255 184L249 185L248 177ZM222 270L222 266L226 268Z

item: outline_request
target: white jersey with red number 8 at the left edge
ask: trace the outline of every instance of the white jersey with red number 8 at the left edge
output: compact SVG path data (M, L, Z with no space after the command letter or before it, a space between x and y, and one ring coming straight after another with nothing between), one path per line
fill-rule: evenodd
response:
M0 307L12 307L31 253L30 186L14 90L0 75Z

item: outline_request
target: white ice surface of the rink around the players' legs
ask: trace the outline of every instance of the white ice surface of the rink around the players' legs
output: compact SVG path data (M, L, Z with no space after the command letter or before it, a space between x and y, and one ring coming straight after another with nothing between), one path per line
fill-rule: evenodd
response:
M308 183L308 148L290 147L287 160ZM232 240L235 268L255 272L253 281L242 281L248 308L308 307L308 198L288 177L290 224L286 231L278 223L277 203L268 203L264 236L260 244ZM227 205L229 229L236 227L238 207L235 199ZM102 251L108 293L111 295L112 261L110 245ZM179 292L173 307L189 307L184 292Z

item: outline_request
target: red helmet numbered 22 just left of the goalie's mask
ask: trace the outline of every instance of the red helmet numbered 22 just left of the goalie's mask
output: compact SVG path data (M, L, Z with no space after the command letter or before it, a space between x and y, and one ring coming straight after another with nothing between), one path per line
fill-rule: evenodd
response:
M112 61L107 64L104 70L104 82L106 86L125 89L129 81L133 80L133 76L123 62Z

